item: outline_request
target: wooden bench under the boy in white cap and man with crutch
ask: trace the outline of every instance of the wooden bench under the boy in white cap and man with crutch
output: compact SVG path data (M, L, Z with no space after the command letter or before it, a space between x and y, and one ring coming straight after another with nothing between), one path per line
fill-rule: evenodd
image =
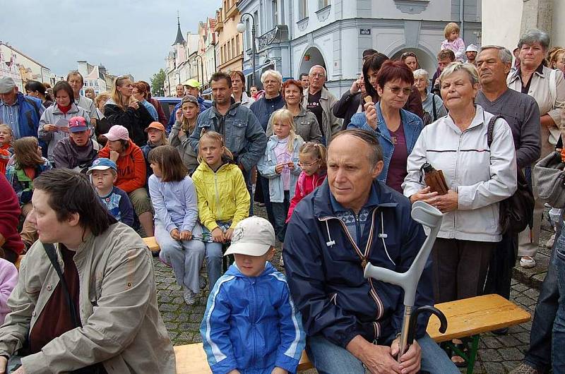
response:
M449 303L436 304L436 308L444 312L448 320L445 334L438 330L439 320L435 315L429 319L427 332L436 342L451 342L452 339L472 337L472 346L467 358L468 374L472 374L477 358L479 335L482 332L519 325L530 320L526 312L511 301L499 295L484 295ZM202 343L186 344L174 347L177 359L177 374L211 373ZM306 353L302 358L298 371L313 368Z

